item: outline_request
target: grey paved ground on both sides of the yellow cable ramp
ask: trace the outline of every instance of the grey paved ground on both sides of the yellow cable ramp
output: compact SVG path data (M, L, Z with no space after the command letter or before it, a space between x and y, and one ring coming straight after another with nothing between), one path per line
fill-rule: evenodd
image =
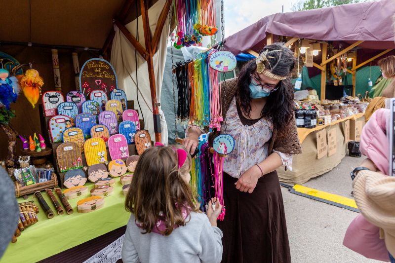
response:
M306 187L352 198L350 171L362 158L346 156L332 171ZM344 233L357 213L318 202L281 188L291 257L294 263L379 263L343 246Z

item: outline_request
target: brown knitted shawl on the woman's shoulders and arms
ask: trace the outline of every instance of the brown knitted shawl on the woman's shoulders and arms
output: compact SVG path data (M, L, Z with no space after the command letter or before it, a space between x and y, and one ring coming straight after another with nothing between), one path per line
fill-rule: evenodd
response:
M232 103L233 98L236 96L237 92L237 77L225 80L221 84L222 93L222 116L226 118L226 113ZM269 141L269 153L273 150L285 153L285 154L300 154L302 153L298 131L296 129L295 117L289 123L290 127L286 134L279 136L277 134L276 128L273 130L272 139ZM214 138L220 135L219 131L215 131L210 134L209 145L213 145Z

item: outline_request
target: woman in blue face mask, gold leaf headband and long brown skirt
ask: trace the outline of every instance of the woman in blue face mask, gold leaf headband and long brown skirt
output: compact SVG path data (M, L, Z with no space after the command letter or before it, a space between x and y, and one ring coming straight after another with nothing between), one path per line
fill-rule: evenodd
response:
M291 262L276 169L291 170L292 154L301 153L290 80L294 65L293 52L275 43L246 63L237 78L221 82L221 133L236 142L224 160L222 262ZM202 132L188 128L183 144L191 154ZM218 135L210 135L211 146Z

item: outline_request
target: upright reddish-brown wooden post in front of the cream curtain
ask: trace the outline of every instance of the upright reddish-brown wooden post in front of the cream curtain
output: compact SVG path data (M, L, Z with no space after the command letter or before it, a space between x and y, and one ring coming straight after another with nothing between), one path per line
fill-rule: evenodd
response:
M148 77L150 79L150 87L151 87L151 101L152 101L152 112L154 115L155 141L161 142L160 116L159 116L159 108L158 108L158 100L157 100L157 89L155 84L154 61L152 59L154 54L152 52L150 21L148 19L148 8L146 6L145 0L140 0L140 7L141 7L141 16L143 18L145 48L146 48L146 52L148 52L148 58L147 58Z

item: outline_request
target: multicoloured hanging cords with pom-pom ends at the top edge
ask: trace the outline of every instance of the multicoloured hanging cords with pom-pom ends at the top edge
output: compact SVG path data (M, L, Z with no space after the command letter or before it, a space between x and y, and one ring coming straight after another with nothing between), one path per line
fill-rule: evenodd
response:
M202 36L217 33L215 27L215 0L173 0L177 24L175 48L201 42Z

